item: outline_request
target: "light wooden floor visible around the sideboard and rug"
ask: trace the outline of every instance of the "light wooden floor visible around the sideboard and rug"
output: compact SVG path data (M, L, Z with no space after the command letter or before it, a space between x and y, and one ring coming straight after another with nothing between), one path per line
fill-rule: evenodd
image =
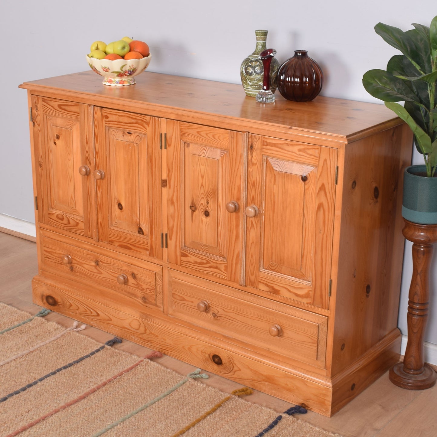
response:
M34 305L31 298L31 279L37 273L35 243L0 232L0 302L31 314L38 312L40 307ZM54 312L46 316L46 319L63 326L72 325L71 319ZM102 343L111 338L110 334L92 327L88 327L83 333ZM127 340L114 347L137 355L144 355L148 351L145 347ZM156 361L181 374L187 374L194 369L189 364L167 356ZM224 392L241 387L215 375L204 381ZM245 399L270 407L278 413L291 406L260 392ZM388 381L387 373L333 417L327 418L308 412L298 418L343 436L435 437L436 411L437 386L423 391L403 390Z

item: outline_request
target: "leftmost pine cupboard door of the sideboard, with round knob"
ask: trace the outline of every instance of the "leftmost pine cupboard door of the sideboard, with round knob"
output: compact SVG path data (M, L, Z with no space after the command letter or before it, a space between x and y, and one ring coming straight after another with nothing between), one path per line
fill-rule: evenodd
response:
M38 219L95 236L92 114L85 104L32 96Z

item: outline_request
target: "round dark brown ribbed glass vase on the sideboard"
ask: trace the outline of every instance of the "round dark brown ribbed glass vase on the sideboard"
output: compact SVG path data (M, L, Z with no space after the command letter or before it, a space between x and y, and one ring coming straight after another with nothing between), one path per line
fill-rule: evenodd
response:
M287 100L307 102L322 90L323 72L306 50L295 50L277 73L277 89Z

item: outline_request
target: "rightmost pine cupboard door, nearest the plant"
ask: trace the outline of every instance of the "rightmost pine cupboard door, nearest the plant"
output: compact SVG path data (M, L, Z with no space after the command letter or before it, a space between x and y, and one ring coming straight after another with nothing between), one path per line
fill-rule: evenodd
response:
M328 307L337 151L250 135L245 284Z

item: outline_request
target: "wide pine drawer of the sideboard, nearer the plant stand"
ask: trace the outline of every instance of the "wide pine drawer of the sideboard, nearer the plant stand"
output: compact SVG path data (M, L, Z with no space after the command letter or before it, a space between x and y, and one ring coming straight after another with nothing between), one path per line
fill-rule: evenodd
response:
M242 292L169 270L168 313L263 350L325 367L327 317L262 301L247 302Z

